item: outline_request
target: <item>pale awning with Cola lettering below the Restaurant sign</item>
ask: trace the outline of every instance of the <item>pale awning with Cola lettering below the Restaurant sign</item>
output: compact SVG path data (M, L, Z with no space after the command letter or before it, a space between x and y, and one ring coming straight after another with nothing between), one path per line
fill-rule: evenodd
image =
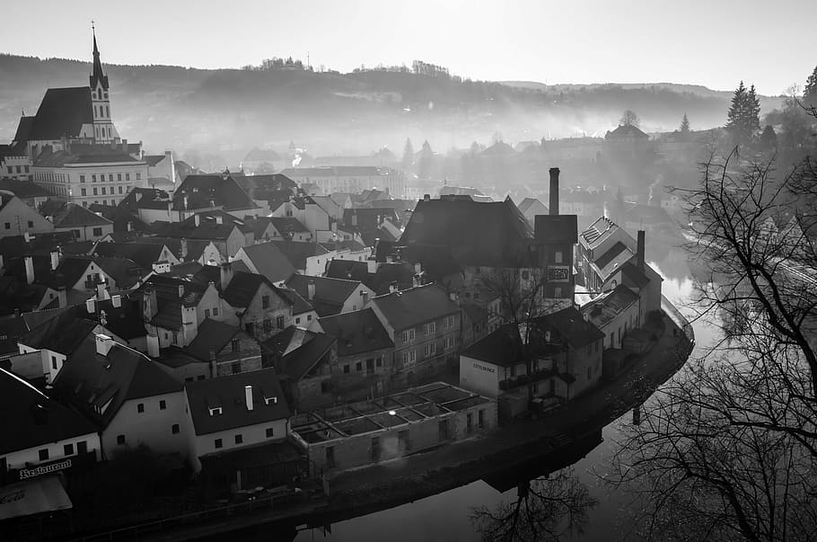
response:
M0 487L0 520L72 508L57 476L45 476Z

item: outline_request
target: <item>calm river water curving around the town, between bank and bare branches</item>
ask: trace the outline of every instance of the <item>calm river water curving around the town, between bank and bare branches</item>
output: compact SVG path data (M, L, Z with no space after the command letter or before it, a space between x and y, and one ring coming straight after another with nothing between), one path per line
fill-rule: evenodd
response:
M649 249L649 246L647 247ZM666 249L664 248L664 251ZM650 251L647 250L647 254ZM686 255L671 249L657 262L651 262L663 276L663 295L669 298L685 315L691 315L688 307L693 292L693 280ZM711 325L693 323L696 351L715 340ZM570 537L583 542L608 541L612 539L637 539L628 533L626 508L629 497L625 493L611 491L602 482L606 462L615 449L618 428L622 423L632 422L632 413L623 415L616 422L602 429L602 443L573 465L575 476L584 484L598 504L587 511L584 533ZM490 511L503 502L514 502L517 489L501 492L479 480L445 493L439 493L415 502L409 502L390 510L374 512L351 520L340 521L327 529L303 529L295 540L326 540L352 542L362 540L388 540L390 542L429 541L479 541L482 534L471 523L471 510L485 506Z

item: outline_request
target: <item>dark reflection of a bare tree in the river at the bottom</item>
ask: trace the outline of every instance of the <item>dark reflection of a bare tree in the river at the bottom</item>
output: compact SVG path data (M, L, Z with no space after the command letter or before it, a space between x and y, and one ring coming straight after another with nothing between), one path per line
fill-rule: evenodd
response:
M471 509L470 520L483 540L561 540L581 534L587 511L598 502L575 476L572 468L553 477L540 477L519 485L514 502L501 502L494 511Z

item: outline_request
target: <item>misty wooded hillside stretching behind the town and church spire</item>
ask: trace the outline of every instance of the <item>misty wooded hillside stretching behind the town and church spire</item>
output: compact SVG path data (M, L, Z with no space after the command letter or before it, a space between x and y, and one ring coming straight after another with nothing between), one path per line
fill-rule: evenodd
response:
M636 111L646 131L675 129L684 112L693 129L707 129L725 122L731 97L696 85L501 84L396 70L104 67L123 138L182 156L196 148L233 164L251 147L290 141L312 155L383 145L400 154L407 137L444 152L496 132L512 142L603 136L624 109ZM48 87L87 84L90 70L77 60L0 55L0 140L13 137L21 111L33 114ZM761 105L768 111L778 103L763 98Z

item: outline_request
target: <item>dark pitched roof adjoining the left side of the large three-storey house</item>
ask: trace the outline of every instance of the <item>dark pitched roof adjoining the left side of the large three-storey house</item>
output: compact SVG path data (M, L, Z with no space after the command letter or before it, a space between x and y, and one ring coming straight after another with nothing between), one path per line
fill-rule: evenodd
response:
M338 339L338 355L393 348L389 333L371 308L319 320L323 331Z

